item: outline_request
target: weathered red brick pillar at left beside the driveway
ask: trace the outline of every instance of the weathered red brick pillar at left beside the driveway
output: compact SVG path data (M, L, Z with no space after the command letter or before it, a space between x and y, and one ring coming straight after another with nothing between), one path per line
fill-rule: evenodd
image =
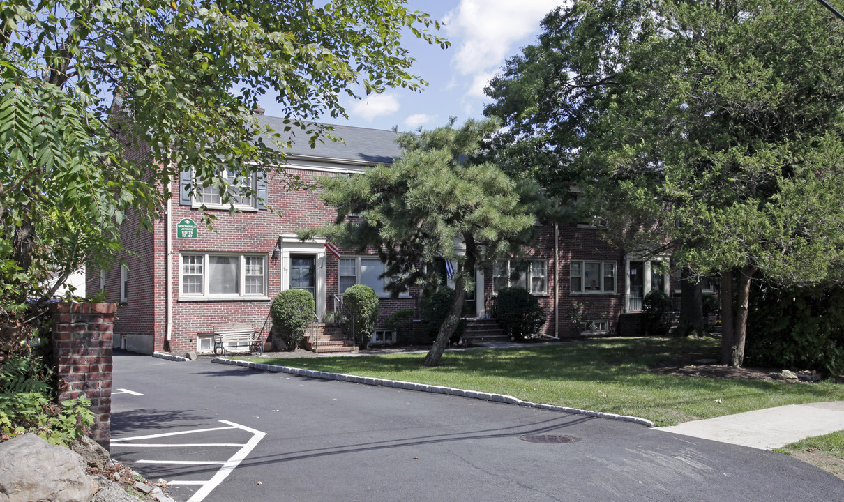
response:
M58 402L87 397L95 414L89 436L106 450L111 438L111 337L116 304L59 303L52 307L52 348ZM63 388L62 388L63 387Z

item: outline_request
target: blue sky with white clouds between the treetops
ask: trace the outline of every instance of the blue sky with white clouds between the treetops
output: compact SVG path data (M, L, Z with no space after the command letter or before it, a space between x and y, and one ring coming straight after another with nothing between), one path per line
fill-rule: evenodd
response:
M483 116L484 85L506 58L532 44L539 21L562 0L408 0L409 10L430 13L445 23L440 34L452 42L442 50L407 36L403 46L417 59L412 73L430 84L425 91L387 89L363 101L344 100L348 121L330 116L322 121L356 127L413 131L446 124L449 116L462 123ZM280 107L269 99L261 105L267 115L279 116ZM279 108L278 111L275 108Z

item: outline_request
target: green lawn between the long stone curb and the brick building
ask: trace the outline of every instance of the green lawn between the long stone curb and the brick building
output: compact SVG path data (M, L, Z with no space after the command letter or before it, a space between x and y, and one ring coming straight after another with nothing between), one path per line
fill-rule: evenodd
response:
M785 404L844 400L844 385L831 381L788 384L647 371L655 364L714 358L718 350L718 341L711 338L609 338L446 352L436 368L422 366L424 354L244 359L497 392L524 401L649 418L661 426Z

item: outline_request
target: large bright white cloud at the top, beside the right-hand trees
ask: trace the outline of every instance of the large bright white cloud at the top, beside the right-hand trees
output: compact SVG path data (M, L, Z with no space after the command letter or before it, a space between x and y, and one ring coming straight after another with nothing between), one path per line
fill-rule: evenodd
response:
M462 0L446 15L452 40L461 40L452 64L464 75L489 72L516 54L514 43L538 34L539 21L560 0Z

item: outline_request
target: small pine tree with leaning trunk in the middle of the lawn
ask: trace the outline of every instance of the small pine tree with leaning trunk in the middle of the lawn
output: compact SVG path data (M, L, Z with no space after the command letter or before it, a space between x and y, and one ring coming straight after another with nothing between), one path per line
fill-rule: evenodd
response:
M457 262L454 300L425 357L429 366L438 364L460 321L475 267L519 251L533 235L541 200L536 186L517 184L497 166L473 160L497 121L453 123L399 136L403 154L392 165L319 180L322 200L337 208L337 222L300 233L303 239L325 235L345 247L375 247L393 294L434 290L441 280L434 262Z

